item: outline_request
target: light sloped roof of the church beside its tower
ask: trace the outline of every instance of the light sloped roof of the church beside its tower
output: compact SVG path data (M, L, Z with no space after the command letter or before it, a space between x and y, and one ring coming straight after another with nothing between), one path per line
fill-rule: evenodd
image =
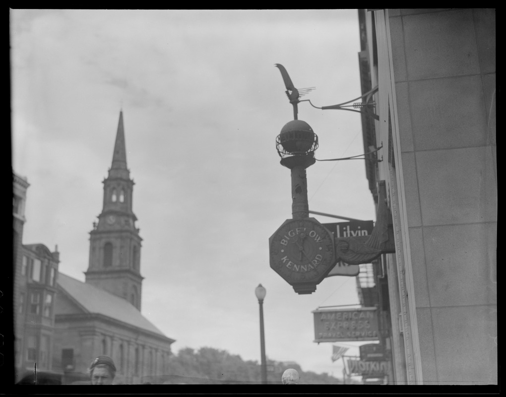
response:
M90 284L82 283L66 274L58 274L58 285L85 312L102 314L167 338L130 302ZM170 339L170 338L168 338Z

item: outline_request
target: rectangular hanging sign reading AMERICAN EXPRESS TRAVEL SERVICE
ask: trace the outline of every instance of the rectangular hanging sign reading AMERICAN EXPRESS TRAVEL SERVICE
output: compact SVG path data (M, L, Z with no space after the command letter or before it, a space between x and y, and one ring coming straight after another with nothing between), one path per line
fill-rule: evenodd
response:
M378 316L375 307L353 309L316 309L314 342L378 340Z

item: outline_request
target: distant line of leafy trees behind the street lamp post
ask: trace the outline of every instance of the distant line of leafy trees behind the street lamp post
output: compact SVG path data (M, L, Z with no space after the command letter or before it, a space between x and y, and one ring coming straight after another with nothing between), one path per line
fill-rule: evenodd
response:
M195 351L186 347L171 356L167 375L145 376L142 383L151 384L211 384L261 383L261 368L257 361L243 361L239 355L225 350L202 347ZM301 384L342 384L343 380L328 374L303 372L297 363L267 360L267 382L281 383L284 370L294 368L301 375Z

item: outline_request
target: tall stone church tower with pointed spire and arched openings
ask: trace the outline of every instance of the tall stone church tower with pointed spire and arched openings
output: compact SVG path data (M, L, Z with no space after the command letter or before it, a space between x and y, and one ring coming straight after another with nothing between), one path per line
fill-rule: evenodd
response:
M104 201L98 223L90 232L90 262L86 283L128 300L141 309L141 242L137 217L132 212L134 181L126 168L123 111L119 112L118 130L109 174L102 181Z

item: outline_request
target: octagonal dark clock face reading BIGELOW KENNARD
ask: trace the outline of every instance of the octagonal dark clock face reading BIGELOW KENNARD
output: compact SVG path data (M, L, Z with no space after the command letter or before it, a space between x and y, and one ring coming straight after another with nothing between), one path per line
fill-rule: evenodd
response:
M287 219L269 239L271 268L311 294L336 263L332 233L314 218Z

